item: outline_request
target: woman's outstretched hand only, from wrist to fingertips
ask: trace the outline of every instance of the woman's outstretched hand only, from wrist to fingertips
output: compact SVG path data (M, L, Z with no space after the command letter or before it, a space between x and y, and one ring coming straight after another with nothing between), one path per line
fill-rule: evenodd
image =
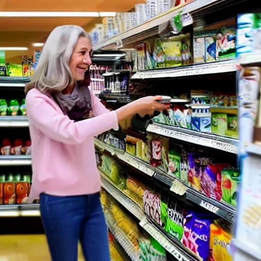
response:
M170 108L170 103L161 103L159 100L162 99L162 96L146 96L140 98L135 103L135 110L141 117L144 117L146 114L153 115L154 111L165 111Z

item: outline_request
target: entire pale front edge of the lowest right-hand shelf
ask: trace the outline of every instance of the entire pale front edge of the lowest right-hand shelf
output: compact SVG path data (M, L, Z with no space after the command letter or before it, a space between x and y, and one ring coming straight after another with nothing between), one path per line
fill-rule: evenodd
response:
M198 261L200 260L189 250L185 249L178 241L170 240L164 232L158 227L154 226L152 222L143 213L141 207L134 202L131 198L128 198L121 190L119 190L113 182L100 171L101 186L109 194L111 194L121 205L123 205L129 212L131 212L136 218L140 220L140 226L147 231L150 236L156 239L169 253L171 253L179 261ZM125 248L124 248L125 249Z

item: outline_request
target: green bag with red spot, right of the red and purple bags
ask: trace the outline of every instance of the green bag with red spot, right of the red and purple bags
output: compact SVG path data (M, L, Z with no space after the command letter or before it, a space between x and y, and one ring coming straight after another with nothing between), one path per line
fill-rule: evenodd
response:
M234 206L237 205L237 189L240 183L240 171L238 169L222 170L222 199Z

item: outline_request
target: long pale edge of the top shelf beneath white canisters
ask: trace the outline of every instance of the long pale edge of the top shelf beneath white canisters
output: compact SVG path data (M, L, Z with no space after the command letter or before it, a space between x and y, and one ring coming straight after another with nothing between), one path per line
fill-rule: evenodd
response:
M181 11L181 14L186 14L186 13L194 13L198 10L202 11L205 8L215 8L218 5L223 5L224 3L227 3L228 1L225 0L194 0L191 1L190 3L187 3L185 5L180 5L177 7L174 7L170 9L168 12L156 16L155 18L146 21L145 23L139 24L134 28L131 28L123 33L120 33L118 35L115 35L109 39L106 39L104 41L101 41L97 44L94 44L93 49L102 49L105 48L106 46L110 45L116 45L117 47L122 47L122 41L129 38L133 37L135 35L140 35L142 33L145 33L146 31L149 31L155 27L158 27L159 25L168 22L172 17L176 16L179 14ZM230 1L231 2L231 1ZM235 3L237 1L234 1ZM116 47L116 48L117 48Z

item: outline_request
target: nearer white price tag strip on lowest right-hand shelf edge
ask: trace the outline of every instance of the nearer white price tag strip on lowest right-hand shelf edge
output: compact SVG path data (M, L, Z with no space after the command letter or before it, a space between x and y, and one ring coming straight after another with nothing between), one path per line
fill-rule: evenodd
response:
M158 241L178 261L199 260L197 257L186 253L184 250L175 245L175 243L171 242L158 228L153 226L146 217L144 217L144 219L140 222L140 226L146 230L151 237Z

